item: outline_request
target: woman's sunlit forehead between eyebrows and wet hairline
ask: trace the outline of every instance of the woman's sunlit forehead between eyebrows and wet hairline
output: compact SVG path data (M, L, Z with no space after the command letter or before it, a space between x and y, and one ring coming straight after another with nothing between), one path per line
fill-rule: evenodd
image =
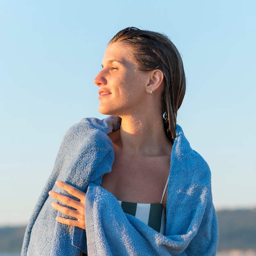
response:
M122 42L109 44L103 56L102 63L113 60L121 63L133 62L131 46Z

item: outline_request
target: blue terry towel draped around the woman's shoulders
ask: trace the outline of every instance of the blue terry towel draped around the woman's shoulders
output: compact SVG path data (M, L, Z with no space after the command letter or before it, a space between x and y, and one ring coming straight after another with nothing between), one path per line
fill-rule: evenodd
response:
M99 186L114 160L107 136L120 127L118 117L83 119L65 135L54 170L26 229L22 256L215 255L218 225L211 198L211 173L177 126L171 153L166 234L157 233L122 211L116 198ZM56 222L48 192L63 180L87 191L85 231ZM90 183L90 184L89 184ZM89 184L89 187L88 187ZM63 193L63 191L62 191Z

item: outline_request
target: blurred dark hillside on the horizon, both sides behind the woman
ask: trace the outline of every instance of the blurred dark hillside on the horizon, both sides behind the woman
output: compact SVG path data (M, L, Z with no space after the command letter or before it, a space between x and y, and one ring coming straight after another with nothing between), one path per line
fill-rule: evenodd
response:
M256 209L217 211L218 251L231 249L256 251ZM0 252L20 252L25 227L0 228Z

